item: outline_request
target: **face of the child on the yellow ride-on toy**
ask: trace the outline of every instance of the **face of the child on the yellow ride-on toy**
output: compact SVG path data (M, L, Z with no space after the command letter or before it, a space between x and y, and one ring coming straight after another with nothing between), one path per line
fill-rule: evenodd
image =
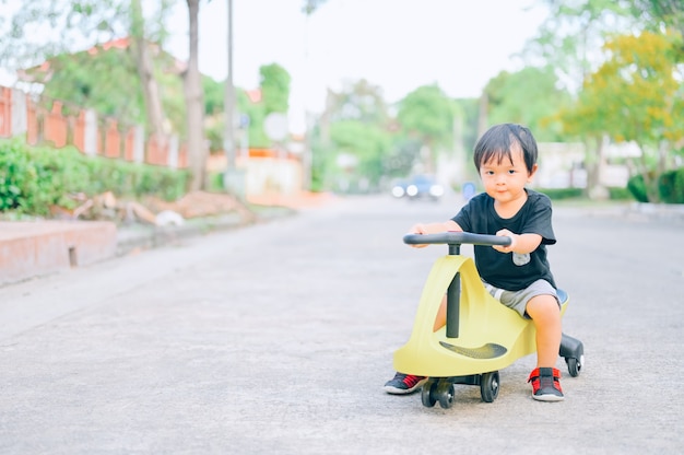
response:
M480 165L480 177L484 189L499 203L506 203L524 198L524 185L532 182L536 172L536 164L532 171L524 165L522 150L516 144L510 149L512 162L504 156L498 162L498 156L493 156L486 163Z

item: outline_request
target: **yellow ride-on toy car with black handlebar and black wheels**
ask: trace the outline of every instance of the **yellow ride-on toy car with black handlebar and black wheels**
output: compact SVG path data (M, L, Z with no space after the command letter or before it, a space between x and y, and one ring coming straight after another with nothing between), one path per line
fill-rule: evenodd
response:
M394 352L394 369L428 377L421 394L426 407L439 401L443 408L450 408L455 384L479 385L482 400L494 401L499 389L498 370L536 351L535 329L530 319L502 305L486 291L474 261L462 256L460 247L508 245L510 238L445 232L408 234L403 241L412 245L446 244L449 254L436 260L427 277L411 337ZM447 324L433 331L445 294ZM558 290L558 298L564 314L567 293ZM570 376L579 374L583 350L581 341L563 334L559 354Z

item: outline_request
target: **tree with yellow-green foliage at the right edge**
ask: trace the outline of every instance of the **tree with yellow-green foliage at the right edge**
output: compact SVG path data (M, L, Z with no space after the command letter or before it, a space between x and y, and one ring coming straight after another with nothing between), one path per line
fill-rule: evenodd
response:
M669 147L684 138L684 85L673 58L675 43L651 32L608 42L609 58L587 79L577 106L566 116L575 131L638 144L638 167L653 202L659 201L658 177L669 167Z

